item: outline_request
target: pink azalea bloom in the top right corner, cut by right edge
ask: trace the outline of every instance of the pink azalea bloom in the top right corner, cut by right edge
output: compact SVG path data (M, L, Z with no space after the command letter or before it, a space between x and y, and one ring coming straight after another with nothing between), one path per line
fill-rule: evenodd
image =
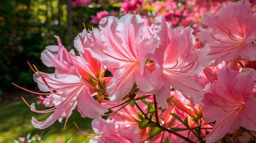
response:
M256 13L250 11L246 0L229 2L216 15L205 13L202 23L209 29L202 30L200 41L210 45L210 53L215 63L229 61L241 56L256 61ZM218 62L219 61L219 62Z

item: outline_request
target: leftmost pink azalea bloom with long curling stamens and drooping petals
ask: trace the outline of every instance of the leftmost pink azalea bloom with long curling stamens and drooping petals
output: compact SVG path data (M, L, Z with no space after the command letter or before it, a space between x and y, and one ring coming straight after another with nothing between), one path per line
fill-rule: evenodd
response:
M82 57L75 56L73 51L67 52L58 37L56 38L58 46L48 46L41 54L41 59L45 65L55 67L55 74L45 74L37 69L34 74L34 80L38 83L39 89L50 91L50 93L36 94L48 95L44 104L54 106L45 111L38 111L35 109L34 103L31 104L31 110L36 113L54 112L42 122L32 117L33 126L39 129L47 128L57 119L61 121L63 117L66 118L66 123L76 106L82 117L99 118L108 112L107 107L102 106L92 98L90 91L93 91L95 87L88 83L88 77L101 80L100 75L104 71L103 66L95 58L92 58L89 52L79 51ZM76 43L78 43L77 40ZM89 90L88 87L92 89Z

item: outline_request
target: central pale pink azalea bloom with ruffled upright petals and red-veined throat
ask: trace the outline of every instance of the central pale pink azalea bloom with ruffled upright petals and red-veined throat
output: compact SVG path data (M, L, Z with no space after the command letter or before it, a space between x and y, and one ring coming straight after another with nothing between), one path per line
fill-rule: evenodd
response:
M118 68L106 90L110 100L121 101L134 82L142 91L153 89L151 73L144 66L146 56L155 52L159 39L139 15L101 19L99 29L92 30L91 40L93 46L87 49L92 56L106 67Z

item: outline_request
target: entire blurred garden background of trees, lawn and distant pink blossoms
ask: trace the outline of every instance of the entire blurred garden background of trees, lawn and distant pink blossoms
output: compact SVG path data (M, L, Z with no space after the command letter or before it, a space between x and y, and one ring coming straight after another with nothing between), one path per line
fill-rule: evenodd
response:
M31 134L28 139L36 135L36 140L49 143L89 141L75 128L73 122L85 132L92 133L92 119L82 118L76 110L65 128L64 123L59 122L45 130L34 128L31 125L32 116L43 121L50 113L32 112L21 97L29 104L38 104L38 109L45 107L36 95L11 84L13 82L25 89L38 91L33 80L34 72L27 61L42 72L53 73L53 68L42 63L40 54L46 46L57 45L54 35L59 36L63 45L71 50L74 49L74 38L84 29L83 23L90 30L92 27L97 28L103 17L121 17L126 13L140 14L147 19L148 24L152 24L154 17L164 16L172 28L191 26L198 32L204 28L200 24L201 16L208 11L216 13L228 1L0 0L0 142L18 141L18 137L27 137L28 134ZM256 9L255 1L249 0L253 12ZM200 47L200 43L196 42L195 47ZM41 135L41 139L38 139L37 134Z

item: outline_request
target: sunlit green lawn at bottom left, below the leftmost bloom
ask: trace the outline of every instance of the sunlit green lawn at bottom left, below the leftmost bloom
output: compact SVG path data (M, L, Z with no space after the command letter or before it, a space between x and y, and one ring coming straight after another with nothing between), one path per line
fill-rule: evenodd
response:
M29 98L27 102L29 104L36 102L36 108L38 110L47 109L37 100L38 98ZM67 121L67 125L64 128L65 119L62 123L56 121L52 126L39 130L32 126L31 118L36 117L38 121L43 121L49 117L51 113L39 114L34 113L23 102L11 102L8 104L0 105L0 143L13 143L14 139L18 137L26 137L31 132L31 135L40 133L44 130L44 134L49 133L49 136L45 139L44 143L56 143L58 139L63 141L66 139L72 139L72 143L88 143L90 138L83 136L74 126L75 122L79 128L85 132L93 133L91 128L92 119L81 117L80 113L76 110L73 111L71 117Z

